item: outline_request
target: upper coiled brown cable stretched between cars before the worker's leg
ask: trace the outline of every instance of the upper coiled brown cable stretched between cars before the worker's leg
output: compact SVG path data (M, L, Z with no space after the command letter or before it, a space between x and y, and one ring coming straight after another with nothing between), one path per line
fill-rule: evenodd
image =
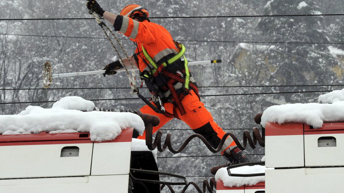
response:
M247 142L249 144L249 146L252 149L256 148L257 142L261 147L265 147L265 143L264 140L262 139L262 136L259 132L259 129L257 127L254 127L252 129L252 136L250 135L250 132L245 129L244 133L243 133L243 144L241 145L240 141L238 140L238 138L232 133L232 132L227 132L223 138L221 139L218 147L215 149L211 146L211 144L208 142L207 139L205 139L202 135L200 134L193 134L190 137L188 137L184 143L177 149L174 149L172 147L172 141L171 141L171 133L167 133L164 144L162 145L162 131L158 130L157 134L155 135L155 139L153 141L153 126L146 126L146 145L148 147L149 150L154 150L155 148L158 149L158 151L163 152L166 150L166 148L168 148L168 150L170 152L172 152L173 154L178 154L180 153L183 149L185 149L185 147L190 143L190 141L194 138L199 138L202 140L202 142L204 143L204 145L213 153L217 153L219 151L221 151L221 148L223 146L223 144L225 143L225 140L228 136L232 137L235 144L238 146L239 149L241 150L245 150L247 147Z

